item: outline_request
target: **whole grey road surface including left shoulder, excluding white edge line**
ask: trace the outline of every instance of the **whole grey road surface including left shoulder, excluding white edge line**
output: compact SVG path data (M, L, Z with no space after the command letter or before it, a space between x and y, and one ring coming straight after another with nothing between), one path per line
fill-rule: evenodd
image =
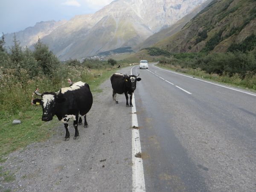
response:
M132 67L118 73L130 74ZM152 64L132 73L142 78L135 102L147 192L255 191L256 96ZM89 128L79 125L79 140L65 142L59 123L54 137L10 154L1 166L15 180L1 182L0 191L134 189L132 110L124 95L113 102L110 79L101 88L93 93ZM73 122L69 129L73 136Z

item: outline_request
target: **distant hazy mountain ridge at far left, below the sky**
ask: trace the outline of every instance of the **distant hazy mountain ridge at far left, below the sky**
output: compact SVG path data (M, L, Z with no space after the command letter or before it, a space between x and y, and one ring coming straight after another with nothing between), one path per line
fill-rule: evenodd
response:
M23 31L15 32L15 33L7 33L4 34L5 38L5 46L11 47L14 43L14 35L16 35L16 39L20 41L21 47L30 47L32 46L36 41L38 41L38 38L43 38L46 35L49 35L52 31L54 31L59 26L63 25L67 21L47 21L47 22L38 22L33 27L28 27L24 29Z

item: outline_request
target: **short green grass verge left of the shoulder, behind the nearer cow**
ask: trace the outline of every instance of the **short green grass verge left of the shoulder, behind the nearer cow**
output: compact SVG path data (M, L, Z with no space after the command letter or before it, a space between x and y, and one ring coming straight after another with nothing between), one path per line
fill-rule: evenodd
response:
M91 78L87 81L92 93L102 92L99 85L110 78L116 70L93 70ZM30 99L30 98L29 98ZM29 101L28 101L29 102ZM55 134L55 127L61 124L57 118L50 122L41 120L42 108L29 106L26 111L12 115L9 113L0 116L0 163L6 161L6 156L18 149L25 148L27 145L36 142L42 142ZM12 121L19 119L20 124L13 125ZM15 176L9 171L3 171L0 166L0 180L3 182L12 182Z

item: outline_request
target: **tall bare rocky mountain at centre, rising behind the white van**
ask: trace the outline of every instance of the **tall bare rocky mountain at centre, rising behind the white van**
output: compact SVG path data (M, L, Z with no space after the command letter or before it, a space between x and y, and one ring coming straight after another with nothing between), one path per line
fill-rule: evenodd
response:
M41 40L61 60L119 47L135 47L150 35L176 23L205 1L114 0L95 14L73 17ZM18 36L23 45L27 40Z

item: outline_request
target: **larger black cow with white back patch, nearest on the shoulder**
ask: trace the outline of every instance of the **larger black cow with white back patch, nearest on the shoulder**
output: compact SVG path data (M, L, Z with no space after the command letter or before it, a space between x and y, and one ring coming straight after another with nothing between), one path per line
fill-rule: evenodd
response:
M42 121L50 121L52 120L52 117L56 115L58 120L64 122L66 141L70 139L70 133L68 131L68 121L70 119L74 120L74 139L79 138L79 131L77 128L79 116L84 116L84 127L88 127L86 113L90 111L93 104L93 96L88 84L79 81L73 83L70 87L61 88L57 93L35 92L35 94L42 97L42 99L33 100L33 104L42 105Z

